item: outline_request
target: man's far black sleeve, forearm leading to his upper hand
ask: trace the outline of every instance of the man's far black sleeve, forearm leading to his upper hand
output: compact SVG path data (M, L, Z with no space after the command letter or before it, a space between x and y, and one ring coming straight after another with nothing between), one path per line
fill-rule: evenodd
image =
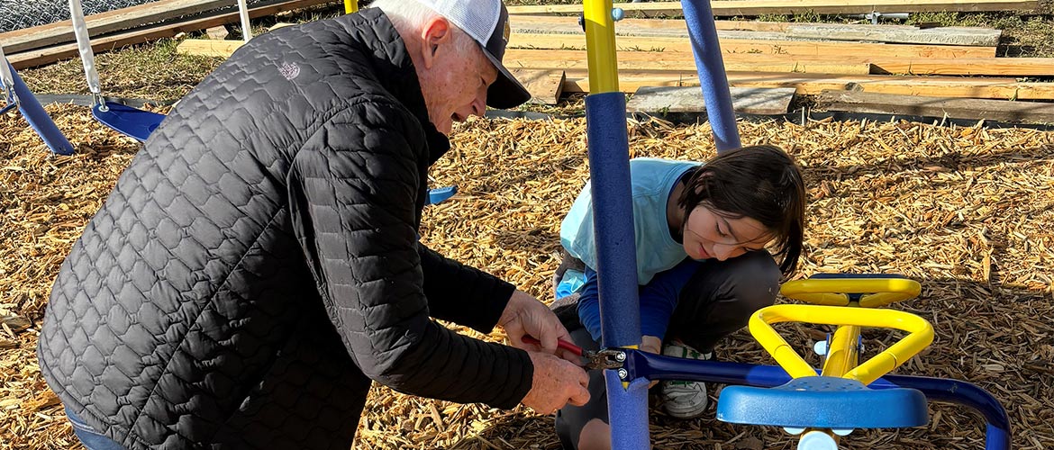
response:
M432 317L490 333L515 288L479 269L419 247L425 296Z

